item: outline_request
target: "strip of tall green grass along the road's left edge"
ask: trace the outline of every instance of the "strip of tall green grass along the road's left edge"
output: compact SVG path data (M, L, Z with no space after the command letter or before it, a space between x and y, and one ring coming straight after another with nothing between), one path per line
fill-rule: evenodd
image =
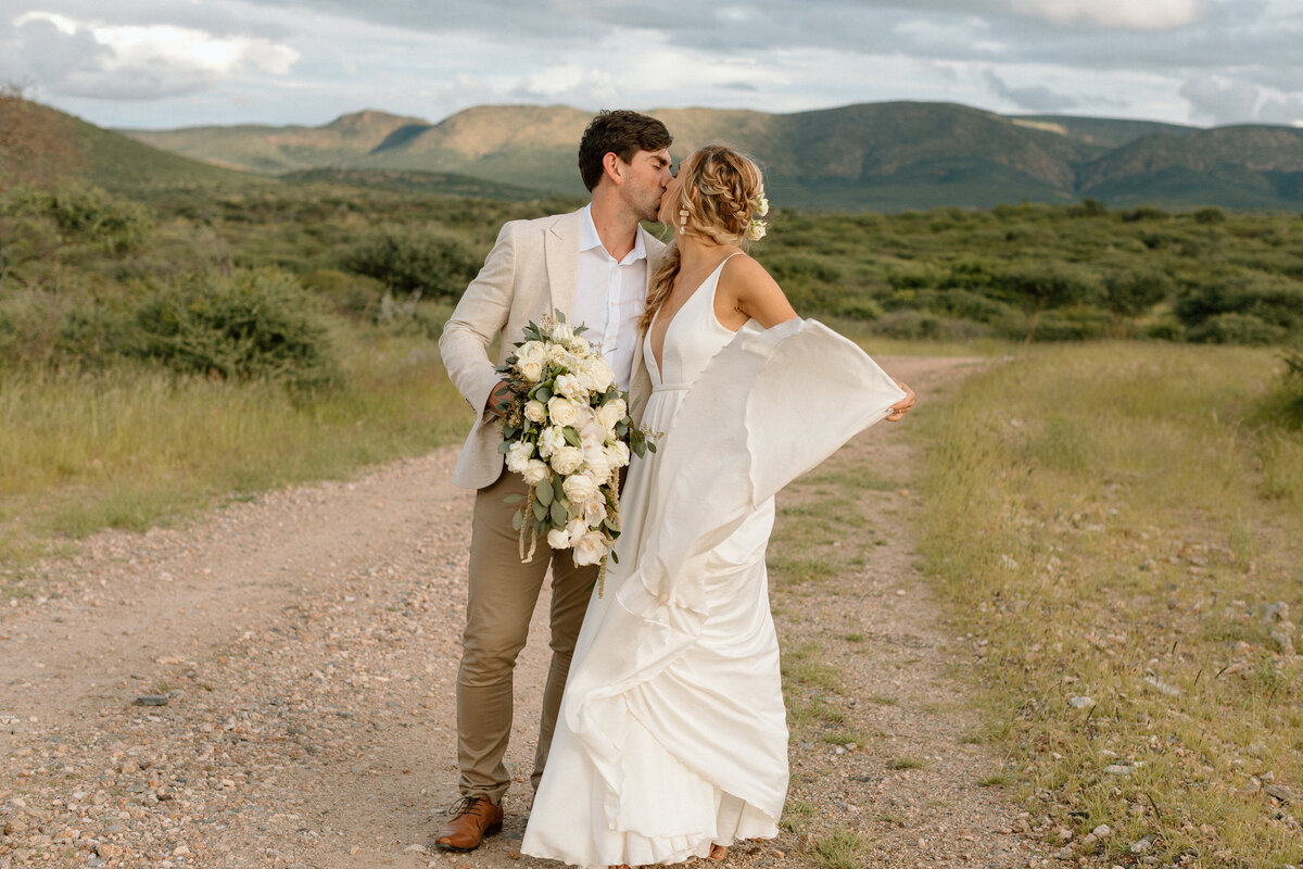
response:
M345 477L451 443L469 410L427 339L351 335L347 386L274 384L117 366L0 380L0 565L63 539L143 530L270 489ZM18 588L25 582L5 585Z

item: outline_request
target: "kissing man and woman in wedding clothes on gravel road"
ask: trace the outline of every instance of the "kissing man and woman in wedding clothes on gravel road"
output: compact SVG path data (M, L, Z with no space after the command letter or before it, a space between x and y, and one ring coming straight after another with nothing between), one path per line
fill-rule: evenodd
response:
M579 146L592 201L513 220L439 339L477 414L452 481L477 490L457 671L461 799L437 834L469 851L502 829L512 671L551 568L551 668L521 851L581 866L722 859L778 833L787 726L765 548L774 494L913 392L803 321L747 254L767 211L760 168L722 145L671 171L665 124L601 112ZM662 244L641 221L659 221ZM584 324L635 422L663 433L620 495L619 556L519 554L502 362L530 321ZM516 502L517 499L511 499Z

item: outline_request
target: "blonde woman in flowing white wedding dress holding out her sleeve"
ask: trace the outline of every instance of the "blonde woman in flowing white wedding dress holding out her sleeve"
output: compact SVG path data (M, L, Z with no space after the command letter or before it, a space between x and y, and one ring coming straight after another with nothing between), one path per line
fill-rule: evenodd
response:
M787 726L765 548L774 492L913 393L801 321L745 254L760 169L723 146L662 197L675 241L638 326L665 433L635 461L521 849L581 866L723 857L778 833Z

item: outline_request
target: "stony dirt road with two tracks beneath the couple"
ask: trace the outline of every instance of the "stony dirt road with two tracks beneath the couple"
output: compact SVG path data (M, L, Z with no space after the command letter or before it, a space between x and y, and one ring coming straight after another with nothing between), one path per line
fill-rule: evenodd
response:
M969 365L885 361L924 408ZM908 468L903 434L878 426L847 449ZM182 530L99 534L38 565L39 597L0 602L0 869L545 865L515 851L528 783L507 796L503 835L472 855L429 849L456 796L470 495L448 482L453 459L446 448L274 492ZM890 618L865 633L855 689L882 693L886 679L896 701L856 706L880 747L825 760L830 747L794 745L794 795L865 830L868 865L1036 864L1032 843L1001 833L1018 806L975 783L998 761L962 739L975 722L947 676L952 637L911 567L912 496L876 496L891 545L847 581ZM844 633L837 606L809 612L779 619L784 640ZM517 668L517 782L545 667L536 618ZM906 752L928 761L885 769ZM816 846L787 831L730 864L812 865Z

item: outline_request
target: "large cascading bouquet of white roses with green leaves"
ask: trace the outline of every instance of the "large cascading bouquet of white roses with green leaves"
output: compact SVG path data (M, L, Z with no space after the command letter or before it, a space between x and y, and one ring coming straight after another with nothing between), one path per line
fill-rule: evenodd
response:
M525 340L498 366L515 392L498 449L507 470L529 483L526 496L508 496L521 502L513 520L520 559L534 556L542 535L569 548L577 565L601 564L605 578L620 535L620 468L655 444L633 425L628 393L582 332L560 311L525 327Z

